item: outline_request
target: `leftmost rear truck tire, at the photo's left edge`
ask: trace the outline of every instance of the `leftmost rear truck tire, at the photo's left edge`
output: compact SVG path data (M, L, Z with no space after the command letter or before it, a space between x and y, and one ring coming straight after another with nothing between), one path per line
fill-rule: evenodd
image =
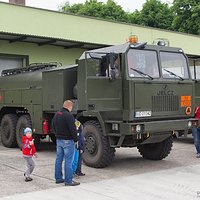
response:
M17 146L15 135L17 119L15 114L6 114L1 120L1 142L5 147Z

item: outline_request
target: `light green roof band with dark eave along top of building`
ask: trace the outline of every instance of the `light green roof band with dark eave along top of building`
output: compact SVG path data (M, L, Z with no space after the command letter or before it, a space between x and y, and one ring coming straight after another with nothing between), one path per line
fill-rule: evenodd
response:
M123 44L130 34L135 34L140 42L152 44L157 38L166 38L170 46L181 47L190 55L200 55L200 37L195 35L3 2L0 2L0 13L0 39L11 43L24 41L40 46L94 49Z

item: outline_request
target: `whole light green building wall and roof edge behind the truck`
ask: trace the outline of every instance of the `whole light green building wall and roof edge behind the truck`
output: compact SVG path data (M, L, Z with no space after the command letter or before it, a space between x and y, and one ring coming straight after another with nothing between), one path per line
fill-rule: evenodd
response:
M74 64L83 51L125 43L131 34L158 38L200 57L200 37L0 2L0 72L38 62ZM192 65L192 61L191 61Z

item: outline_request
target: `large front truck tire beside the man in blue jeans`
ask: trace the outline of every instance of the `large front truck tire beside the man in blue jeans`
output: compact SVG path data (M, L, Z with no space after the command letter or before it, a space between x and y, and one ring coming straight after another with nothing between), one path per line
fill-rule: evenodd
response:
M89 167L103 168L110 165L115 149L109 145L108 138L103 136L98 121L88 121L84 124L85 152L83 161Z

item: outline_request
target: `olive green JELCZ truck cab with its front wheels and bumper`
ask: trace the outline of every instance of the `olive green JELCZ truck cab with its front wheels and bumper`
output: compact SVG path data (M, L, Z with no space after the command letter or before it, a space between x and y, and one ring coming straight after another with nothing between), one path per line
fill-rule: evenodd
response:
M85 123L89 166L108 165L118 147L163 159L171 136L195 124L187 57L181 48L159 44L128 42L87 51L79 59L78 117Z

